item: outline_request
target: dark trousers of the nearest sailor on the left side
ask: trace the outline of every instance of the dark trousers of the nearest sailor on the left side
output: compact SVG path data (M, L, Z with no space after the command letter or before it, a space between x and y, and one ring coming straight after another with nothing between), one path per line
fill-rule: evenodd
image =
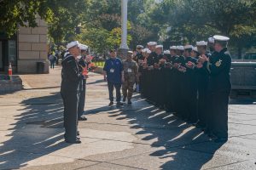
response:
M64 138L73 142L77 139L79 92L61 92L64 105Z

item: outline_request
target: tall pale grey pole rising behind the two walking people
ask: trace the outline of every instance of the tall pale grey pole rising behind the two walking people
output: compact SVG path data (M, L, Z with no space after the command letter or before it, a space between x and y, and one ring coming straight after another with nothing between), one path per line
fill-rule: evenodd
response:
M118 55L122 59L125 58L128 45L127 45L127 4L128 0L121 0L121 11L122 11L122 38L120 48L118 49Z

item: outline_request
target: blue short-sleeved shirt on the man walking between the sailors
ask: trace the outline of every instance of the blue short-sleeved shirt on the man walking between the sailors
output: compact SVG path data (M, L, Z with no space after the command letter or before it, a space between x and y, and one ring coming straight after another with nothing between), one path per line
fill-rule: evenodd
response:
M103 71L107 72L108 82L122 83L122 71L124 70L121 59L107 59Z

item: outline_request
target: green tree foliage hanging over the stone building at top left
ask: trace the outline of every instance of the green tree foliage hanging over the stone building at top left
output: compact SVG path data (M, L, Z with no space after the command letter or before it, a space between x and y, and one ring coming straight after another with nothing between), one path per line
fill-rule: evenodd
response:
M49 24L49 36L61 42L80 22L78 11L85 0L2 0L0 1L0 31L12 36L19 26L37 26L37 14Z

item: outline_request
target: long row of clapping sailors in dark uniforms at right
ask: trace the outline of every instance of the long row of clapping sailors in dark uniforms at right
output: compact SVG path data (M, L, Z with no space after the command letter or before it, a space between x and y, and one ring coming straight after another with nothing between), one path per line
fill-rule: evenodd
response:
M172 46L166 51L148 42L148 48L137 46L134 58L143 97L201 127L216 142L228 139L229 39L214 36L196 42L196 47Z

